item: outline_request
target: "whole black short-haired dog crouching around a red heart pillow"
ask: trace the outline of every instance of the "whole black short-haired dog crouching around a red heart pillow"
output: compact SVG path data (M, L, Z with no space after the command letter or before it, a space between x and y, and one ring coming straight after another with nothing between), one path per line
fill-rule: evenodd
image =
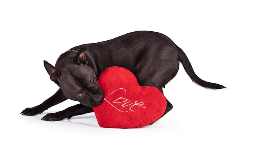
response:
M185 53L167 36L156 32L137 31L105 42L76 46L63 53L55 67L44 61L51 80L60 89L40 105L26 108L21 114L40 114L67 99L79 101L80 104L61 112L47 114L42 120L59 121L93 112L92 107L100 105L104 99L97 78L111 66L124 67L136 76L139 85L155 86L163 92L162 88L177 74L180 62L189 77L198 85L211 89L225 88L195 75ZM164 114L172 107L167 100Z

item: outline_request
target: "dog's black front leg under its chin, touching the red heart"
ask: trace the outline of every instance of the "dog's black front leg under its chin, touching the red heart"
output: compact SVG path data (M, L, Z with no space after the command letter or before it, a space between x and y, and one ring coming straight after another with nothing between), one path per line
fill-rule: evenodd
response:
M72 116L86 114L90 112L93 112L92 107L84 106L80 103L78 105L68 107L67 109L60 112L46 114L42 118L42 120L43 121L61 121L64 118L70 119Z

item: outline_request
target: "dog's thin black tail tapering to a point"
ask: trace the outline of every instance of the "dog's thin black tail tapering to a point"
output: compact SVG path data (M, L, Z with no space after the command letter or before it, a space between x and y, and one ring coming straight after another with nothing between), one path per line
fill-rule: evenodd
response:
M183 50L179 47L178 48L178 55L179 55L179 60L181 62L181 64L183 65L186 73L189 75L189 77L192 79L192 81L194 83L197 83L198 85L204 87L204 88L210 88L210 89L222 89L222 88L226 88L225 86L222 86L220 84L216 84L216 83L211 83L211 82L207 82L204 81L202 79L200 79L194 72L188 57L186 56L186 54L183 52Z

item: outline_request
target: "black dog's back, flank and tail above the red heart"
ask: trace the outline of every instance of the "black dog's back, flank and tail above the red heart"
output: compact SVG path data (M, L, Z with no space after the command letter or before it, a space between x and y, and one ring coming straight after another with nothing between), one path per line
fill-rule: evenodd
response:
M81 46L89 46L85 53L97 61L99 74L111 66L124 67L135 74L140 85L155 86L162 90L175 77L181 62L189 77L198 85L211 89L225 88L200 79L182 49L162 33L136 31ZM72 49L77 50L81 46Z

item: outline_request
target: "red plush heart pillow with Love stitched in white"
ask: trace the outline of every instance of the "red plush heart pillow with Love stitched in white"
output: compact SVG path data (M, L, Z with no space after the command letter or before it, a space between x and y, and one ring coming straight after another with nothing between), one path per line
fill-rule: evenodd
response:
M162 92L139 86L135 75L125 68L106 69L98 83L105 94L103 103L93 108L100 127L142 127L164 114L166 99Z

